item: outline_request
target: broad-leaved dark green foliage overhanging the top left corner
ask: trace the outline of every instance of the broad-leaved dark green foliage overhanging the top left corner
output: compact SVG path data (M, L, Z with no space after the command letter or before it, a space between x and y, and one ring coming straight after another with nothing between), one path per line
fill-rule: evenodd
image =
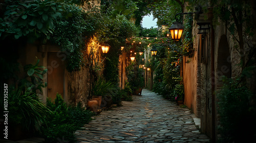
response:
M50 38L53 20L60 16L61 9L53 1L6 1L6 11L0 18L0 36L29 39L46 36Z

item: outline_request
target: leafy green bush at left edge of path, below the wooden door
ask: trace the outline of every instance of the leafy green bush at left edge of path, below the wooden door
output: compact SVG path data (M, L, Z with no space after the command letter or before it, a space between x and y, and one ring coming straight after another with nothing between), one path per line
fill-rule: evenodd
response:
M67 107L60 94L56 95L54 103L47 99L47 106L52 114L47 118L48 126L45 125L43 128L46 142L57 142L58 139L74 142L74 132L89 123L94 113L85 110L80 103L77 106Z

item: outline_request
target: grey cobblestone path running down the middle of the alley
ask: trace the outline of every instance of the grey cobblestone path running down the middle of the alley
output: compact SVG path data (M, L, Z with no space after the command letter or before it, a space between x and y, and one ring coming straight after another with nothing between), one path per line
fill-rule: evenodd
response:
M76 132L77 142L208 142L196 128L193 113L143 89L133 102L123 102L95 116Z

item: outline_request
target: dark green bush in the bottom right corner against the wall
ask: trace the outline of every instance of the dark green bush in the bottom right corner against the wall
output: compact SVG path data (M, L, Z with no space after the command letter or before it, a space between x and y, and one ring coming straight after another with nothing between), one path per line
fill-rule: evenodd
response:
M237 80L224 78L224 85L217 92L220 115L219 142L244 142L256 137L255 94Z

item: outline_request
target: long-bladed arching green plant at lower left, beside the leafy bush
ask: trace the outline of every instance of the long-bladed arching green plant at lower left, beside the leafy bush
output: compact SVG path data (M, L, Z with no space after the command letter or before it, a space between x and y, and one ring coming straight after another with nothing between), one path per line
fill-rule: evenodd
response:
M8 121L11 126L21 124L24 131L40 131L41 124L46 124L45 117L49 117L51 111L38 100L36 93L22 88L14 89L8 95Z

